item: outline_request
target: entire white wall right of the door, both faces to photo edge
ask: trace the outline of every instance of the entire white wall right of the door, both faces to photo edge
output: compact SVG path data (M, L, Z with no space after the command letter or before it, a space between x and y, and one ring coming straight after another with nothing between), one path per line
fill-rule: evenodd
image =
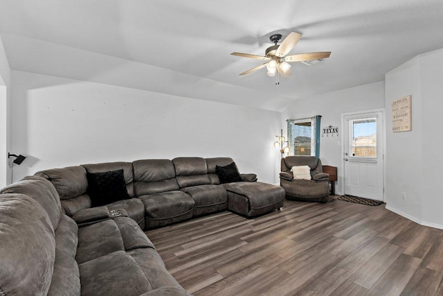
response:
M418 223L443 229L443 49L419 55L386 73L388 209ZM410 132L392 132L391 103L412 95ZM399 196L406 193L406 200Z

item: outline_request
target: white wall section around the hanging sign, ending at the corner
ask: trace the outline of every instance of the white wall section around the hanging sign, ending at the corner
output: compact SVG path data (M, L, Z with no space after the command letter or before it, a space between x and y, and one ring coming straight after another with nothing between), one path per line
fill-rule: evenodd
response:
M422 219L422 96L419 60L386 73L386 204L406 216ZM392 132L392 101L412 95L410 132ZM401 193L406 193L406 200Z

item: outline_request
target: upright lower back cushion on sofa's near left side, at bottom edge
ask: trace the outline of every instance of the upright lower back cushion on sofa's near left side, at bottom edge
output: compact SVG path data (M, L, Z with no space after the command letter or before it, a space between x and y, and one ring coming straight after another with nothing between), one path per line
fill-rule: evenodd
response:
M62 215L55 230L55 262L48 296L80 295L80 273L75 253L77 252L78 227L66 215Z

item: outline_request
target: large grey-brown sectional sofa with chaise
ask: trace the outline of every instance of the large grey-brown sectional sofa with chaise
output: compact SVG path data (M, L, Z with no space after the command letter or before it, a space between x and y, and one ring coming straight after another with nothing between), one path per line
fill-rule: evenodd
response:
M284 190L220 184L228 157L179 157L53 168L0 191L0 295L189 295L144 229L230 209L256 216ZM235 166L235 164L234 164ZM91 207L88 174L123 170L127 197Z

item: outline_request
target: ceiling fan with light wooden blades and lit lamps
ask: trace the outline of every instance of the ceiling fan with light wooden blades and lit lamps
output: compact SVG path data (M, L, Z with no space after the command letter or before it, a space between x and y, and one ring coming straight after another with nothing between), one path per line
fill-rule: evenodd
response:
M231 55L237 55L239 57L244 58L252 58L255 60L265 60L266 62L260 64L260 66L253 67L239 75L246 75L248 73L252 73L254 71L260 70L264 67L268 70L269 76L275 76L275 71L278 71L280 76L289 77L291 76L291 65L288 62L308 62L314 60L323 60L325 58L329 58L331 55L330 51L320 51L316 53L298 53L295 55L285 56L293 49L293 46L296 45L298 40L302 37L302 34L291 32L281 44L277 44L281 39L281 34L273 34L269 37L269 40L274 43L273 46L269 46L264 55L251 55L249 53L231 53Z

